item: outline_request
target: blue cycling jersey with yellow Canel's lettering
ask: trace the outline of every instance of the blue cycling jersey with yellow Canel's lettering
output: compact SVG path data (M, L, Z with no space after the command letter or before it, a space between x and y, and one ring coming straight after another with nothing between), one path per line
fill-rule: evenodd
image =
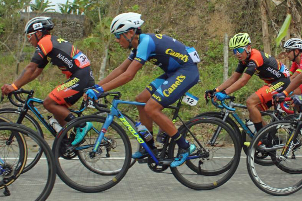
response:
M146 33L140 34L137 49L132 49L128 58L141 64L150 61L166 73L170 73L182 66L194 64L187 52L189 49L169 36Z

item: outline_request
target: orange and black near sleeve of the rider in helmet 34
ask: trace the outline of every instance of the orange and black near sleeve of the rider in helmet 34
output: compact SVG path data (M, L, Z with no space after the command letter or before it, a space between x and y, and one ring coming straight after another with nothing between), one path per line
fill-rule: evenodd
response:
M47 54L53 49L50 37L50 35L47 35L40 39L34 56L31 58L31 62L38 64L38 68L44 68L48 64Z

